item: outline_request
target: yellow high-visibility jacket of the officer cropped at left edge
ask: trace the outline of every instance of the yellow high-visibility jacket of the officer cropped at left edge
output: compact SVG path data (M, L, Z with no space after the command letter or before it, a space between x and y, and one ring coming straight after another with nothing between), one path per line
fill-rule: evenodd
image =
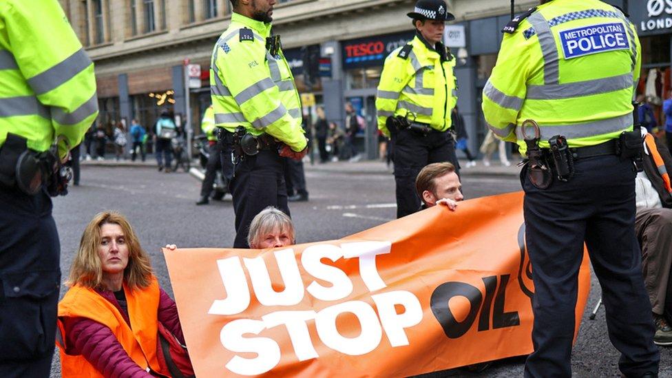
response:
M78 145L98 115L94 65L57 0L0 1L0 145ZM60 145L65 155L65 145Z

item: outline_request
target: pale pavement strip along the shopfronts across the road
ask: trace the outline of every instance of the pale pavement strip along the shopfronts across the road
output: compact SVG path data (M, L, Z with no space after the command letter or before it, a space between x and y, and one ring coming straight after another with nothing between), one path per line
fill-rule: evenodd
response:
M476 161L474 167L467 167L467 160L460 160L461 174L466 176L518 176L520 167L517 167L519 160L511 160L511 165L506 167L497 160L492 161L489 167L483 165L481 160ZM148 167L156 168L156 160L149 159L142 162L140 160L115 160L107 158L105 160L84 160L81 165L98 167ZM198 162L194 160L191 167L197 167ZM392 165L388 166L380 160L359 160L357 162L337 161L311 164L309 160L304 160L304 169L306 171L327 172L337 174L392 174Z

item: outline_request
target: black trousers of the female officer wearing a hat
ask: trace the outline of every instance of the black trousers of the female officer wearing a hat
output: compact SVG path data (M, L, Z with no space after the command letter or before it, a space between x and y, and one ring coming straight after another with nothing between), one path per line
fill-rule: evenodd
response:
M392 135L395 153L395 181L397 182L397 218L408 216L420 209L420 196L415 189L415 178L432 162L452 162L459 174L455 143L448 132L433 130L427 136L409 129Z

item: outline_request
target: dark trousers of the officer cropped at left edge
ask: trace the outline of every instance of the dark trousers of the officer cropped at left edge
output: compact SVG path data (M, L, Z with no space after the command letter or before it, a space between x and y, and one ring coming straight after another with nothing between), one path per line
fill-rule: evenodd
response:
M0 187L0 377L49 377L60 253L49 196Z

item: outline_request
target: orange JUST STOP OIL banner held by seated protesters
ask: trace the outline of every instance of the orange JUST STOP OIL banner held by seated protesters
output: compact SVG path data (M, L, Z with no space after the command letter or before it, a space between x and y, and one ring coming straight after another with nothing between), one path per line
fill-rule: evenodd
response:
M524 235L518 192L341 240L164 253L197 377L401 377L532 352ZM577 330L589 287L585 258Z

